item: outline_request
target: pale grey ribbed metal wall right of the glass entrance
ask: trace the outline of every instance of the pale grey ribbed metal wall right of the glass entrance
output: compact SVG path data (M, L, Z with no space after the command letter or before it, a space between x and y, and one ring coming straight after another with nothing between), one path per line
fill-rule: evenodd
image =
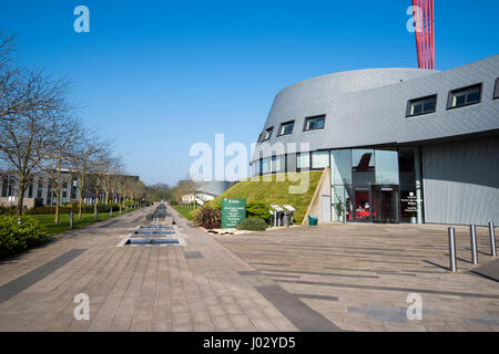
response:
M499 223L499 135L421 153L426 222Z

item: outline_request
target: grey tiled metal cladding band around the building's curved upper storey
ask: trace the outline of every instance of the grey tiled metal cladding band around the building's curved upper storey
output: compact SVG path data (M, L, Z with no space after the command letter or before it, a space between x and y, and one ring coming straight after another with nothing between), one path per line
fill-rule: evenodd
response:
M281 91L264 128L295 119L291 135L269 144L309 143L310 149L410 143L499 128L499 100L493 100L499 55L445 72L373 69L324 75ZM447 110L451 90L482 83L479 104ZM435 113L406 117L407 101L437 94ZM326 114L325 128L302 132L307 116ZM259 145L253 159L259 155ZM264 156L269 154L264 154Z

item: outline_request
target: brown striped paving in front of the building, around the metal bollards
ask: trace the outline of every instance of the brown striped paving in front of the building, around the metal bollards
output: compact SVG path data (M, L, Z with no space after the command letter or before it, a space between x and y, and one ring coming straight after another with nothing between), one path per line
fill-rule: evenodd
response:
M473 273L498 259L487 229L477 232L475 266L469 230L456 227L457 273L446 226L328 223L216 239L255 269L255 284L271 279L342 330L499 331L499 283ZM407 319L410 293L421 320Z

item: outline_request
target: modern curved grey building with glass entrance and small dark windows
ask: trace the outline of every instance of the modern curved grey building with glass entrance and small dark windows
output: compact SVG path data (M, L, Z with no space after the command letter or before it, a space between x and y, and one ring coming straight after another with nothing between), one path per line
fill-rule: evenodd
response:
M498 77L495 55L298 82L276 95L252 175L330 168L324 220L339 202L348 221L499 223Z

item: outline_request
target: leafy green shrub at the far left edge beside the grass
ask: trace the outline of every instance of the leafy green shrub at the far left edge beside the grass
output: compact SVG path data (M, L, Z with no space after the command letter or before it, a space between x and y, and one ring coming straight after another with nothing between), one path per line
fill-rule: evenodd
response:
M38 221L14 216L0 216L0 258L38 246L49 238L49 233Z

